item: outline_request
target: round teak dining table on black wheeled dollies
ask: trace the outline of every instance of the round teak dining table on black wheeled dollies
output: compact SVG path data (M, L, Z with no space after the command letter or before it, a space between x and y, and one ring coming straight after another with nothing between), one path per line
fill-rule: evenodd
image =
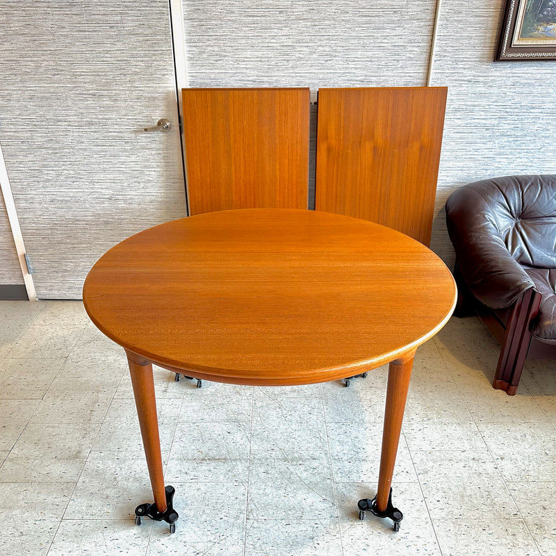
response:
M391 482L411 366L456 295L425 245L320 211L204 213L115 245L90 270L83 303L129 362L154 495L136 508L136 523L148 516L174 532L178 518L174 489L164 486L152 363L256 386L327 382L389 363L377 494L358 509L398 530Z

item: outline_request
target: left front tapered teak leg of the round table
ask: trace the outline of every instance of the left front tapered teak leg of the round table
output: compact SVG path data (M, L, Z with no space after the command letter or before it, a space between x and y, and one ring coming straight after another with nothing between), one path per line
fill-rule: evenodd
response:
M161 440L158 436L152 363L138 357L136 354L129 352L126 352L126 354L154 503L158 512L165 512L167 504L162 469Z

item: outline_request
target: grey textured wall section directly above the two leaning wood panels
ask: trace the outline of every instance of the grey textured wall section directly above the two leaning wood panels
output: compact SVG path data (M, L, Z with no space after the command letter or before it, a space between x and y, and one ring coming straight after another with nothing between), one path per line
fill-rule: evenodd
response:
M183 0L189 85L421 85L434 0Z

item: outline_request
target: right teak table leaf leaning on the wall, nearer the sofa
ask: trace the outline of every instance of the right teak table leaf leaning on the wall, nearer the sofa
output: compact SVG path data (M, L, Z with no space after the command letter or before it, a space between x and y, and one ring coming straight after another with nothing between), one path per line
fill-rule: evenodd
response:
M318 92L316 209L430 243L447 88Z

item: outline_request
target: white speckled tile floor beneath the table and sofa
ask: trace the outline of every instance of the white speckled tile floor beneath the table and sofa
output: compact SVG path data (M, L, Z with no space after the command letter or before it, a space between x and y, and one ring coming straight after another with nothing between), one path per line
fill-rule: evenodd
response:
M350 388L263 389L155 373L177 532L133 523L152 494L123 351L81 302L0 302L0 554L556 555L556 361L514 397L475 318L418 350L394 473L374 496L386 369Z

